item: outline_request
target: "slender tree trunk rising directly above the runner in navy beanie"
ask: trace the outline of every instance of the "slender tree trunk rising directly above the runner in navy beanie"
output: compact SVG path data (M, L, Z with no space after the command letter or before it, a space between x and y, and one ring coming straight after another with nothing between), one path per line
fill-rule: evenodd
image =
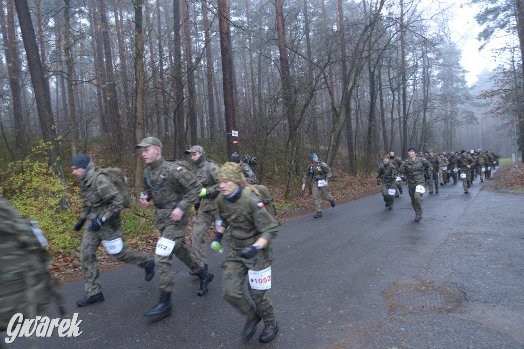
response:
M67 65L67 95L69 98L69 121L71 127L71 159L77 156L77 114L75 112L74 105L74 92L73 92L73 57L71 54L71 28L69 26L69 2L70 0L64 0L64 23L65 23L65 41L64 41L64 54L65 54L65 65Z

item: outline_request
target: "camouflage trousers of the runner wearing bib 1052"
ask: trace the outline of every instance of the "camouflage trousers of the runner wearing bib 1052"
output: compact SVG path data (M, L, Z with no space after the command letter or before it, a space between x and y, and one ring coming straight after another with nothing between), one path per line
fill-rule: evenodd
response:
M272 325L276 322L276 318L271 301L267 297L267 290L253 289L248 282L247 290L251 298L249 300L243 287L249 269L260 271L271 265L271 246L266 246L249 260L239 257L238 252L230 248L222 265L224 269L222 273L222 297L247 319L252 319L255 314L258 314L265 324Z

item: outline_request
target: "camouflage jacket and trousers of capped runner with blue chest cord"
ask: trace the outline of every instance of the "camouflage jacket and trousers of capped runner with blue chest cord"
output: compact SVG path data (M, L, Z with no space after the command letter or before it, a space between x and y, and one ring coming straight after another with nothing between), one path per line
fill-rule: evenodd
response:
M156 207L155 226L162 238L174 241L174 249L169 256L155 254L155 267L161 292L171 292L174 288L172 272L172 255L176 255L194 273L202 271L185 242L185 231L188 226L188 215L175 222L171 212L175 208L187 212L187 209L198 197L202 185L195 176L183 166L168 162L160 157L149 166L144 174L143 191L153 200Z

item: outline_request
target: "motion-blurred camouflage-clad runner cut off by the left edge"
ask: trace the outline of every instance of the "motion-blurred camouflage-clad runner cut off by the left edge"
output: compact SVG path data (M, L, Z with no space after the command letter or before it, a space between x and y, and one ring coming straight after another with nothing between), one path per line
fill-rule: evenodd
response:
M65 313L58 285L47 269L52 257L37 224L0 198L0 332L17 313L35 319L51 299L61 316Z

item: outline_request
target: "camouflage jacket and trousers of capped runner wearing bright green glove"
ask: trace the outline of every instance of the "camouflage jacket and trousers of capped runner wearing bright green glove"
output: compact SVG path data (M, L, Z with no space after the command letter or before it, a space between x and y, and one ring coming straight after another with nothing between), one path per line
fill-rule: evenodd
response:
M216 222L220 220L220 217L215 204L215 199L220 193L219 184L216 180L216 173L219 171L220 165L209 160L204 160L193 168L196 180L209 190L208 195L198 198L197 202L200 204L200 208L193 218L193 250L191 255L202 267L208 264L205 237L209 227L213 222L215 222L216 229L219 229L220 226L220 223Z

